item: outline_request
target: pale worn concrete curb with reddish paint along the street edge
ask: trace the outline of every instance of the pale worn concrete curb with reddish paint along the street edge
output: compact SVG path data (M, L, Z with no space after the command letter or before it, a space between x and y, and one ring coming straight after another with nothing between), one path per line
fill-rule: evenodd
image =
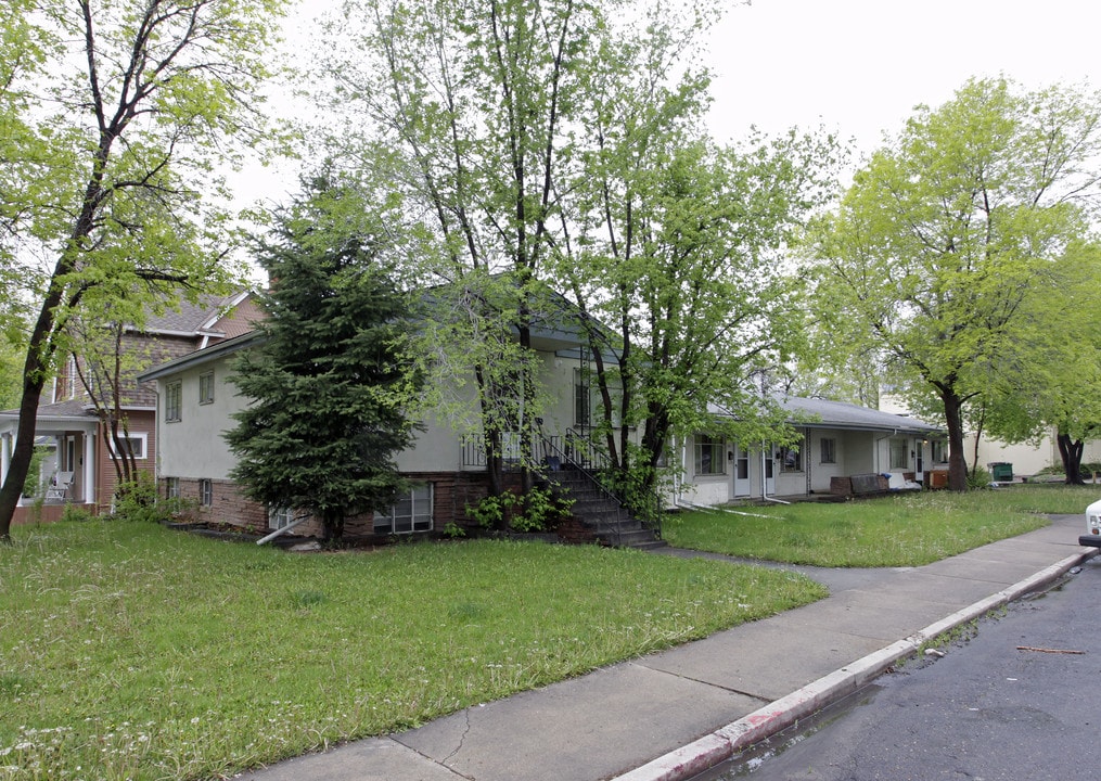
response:
M687 746L669 751L641 768L617 775L609 781L688 781L705 770L724 762L753 744L791 727L798 719L806 718L830 703L852 694L882 675L900 659L915 653L926 640L936 638L950 629L986 615L994 608L1035 592L1062 577L1068 570L1098 554L1101 554L1101 550L1093 549L1068 556L998 594L930 623L904 640L870 653L785 697L768 703L737 722L720 727Z

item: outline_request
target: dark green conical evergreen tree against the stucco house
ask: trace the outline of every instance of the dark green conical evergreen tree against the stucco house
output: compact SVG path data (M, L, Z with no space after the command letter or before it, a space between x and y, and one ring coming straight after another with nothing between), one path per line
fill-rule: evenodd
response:
M407 302L377 239L333 219L347 195L315 185L261 243L268 319L233 379L254 403L226 437L244 493L316 516L328 542L347 517L384 509L406 488L394 456L415 427L405 414L417 384L402 356Z

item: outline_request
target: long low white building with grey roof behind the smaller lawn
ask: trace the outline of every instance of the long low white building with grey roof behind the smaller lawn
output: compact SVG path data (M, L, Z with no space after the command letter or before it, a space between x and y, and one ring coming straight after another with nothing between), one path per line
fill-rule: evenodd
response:
M684 482L676 500L722 505L743 499L832 492L837 478L893 475L894 486L923 482L947 468L947 447L936 426L855 404L784 397L802 441L789 447L738 443L698 432L679 454ZM721 414L717 411L717 414Z

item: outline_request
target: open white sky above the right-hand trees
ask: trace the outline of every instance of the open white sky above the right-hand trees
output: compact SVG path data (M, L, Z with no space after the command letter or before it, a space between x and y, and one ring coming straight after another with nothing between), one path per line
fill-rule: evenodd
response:
M972 77L1101 87L1101 4L1087 0L753 0L712 35L712 133L825 126L872 151L917 104Z

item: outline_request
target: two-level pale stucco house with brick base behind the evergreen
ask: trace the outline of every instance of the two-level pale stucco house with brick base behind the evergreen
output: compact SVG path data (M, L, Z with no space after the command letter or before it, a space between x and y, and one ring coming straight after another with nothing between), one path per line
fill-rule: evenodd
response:
M538 382L554 401L539 412L538 444L544 462L560 467L569 459L576 416L587 412L577 403L586 358L581 330L569 317L547 318L533 326L532 348L538 356ZM230 474L235 456L222 434L236 425L233 413L249 400L231 381L233 357L257 343L247 334L205 350L167 361L140 379L157 389L157 479L166 497L192 500L200 518L253 530L279 530L292 522L281 508L261 507L246 499ZM467 391L473 393L472 383ZM466 507L487 496L484 451L478 433L437 417L422 416L423 430L413 447L397 456L397 466L415 488L386 512L350 518L346 536L370 538L443 531L466 520ZM505 460L516 448L515 435L505 437ZM315 533L307 522L296 533Z

